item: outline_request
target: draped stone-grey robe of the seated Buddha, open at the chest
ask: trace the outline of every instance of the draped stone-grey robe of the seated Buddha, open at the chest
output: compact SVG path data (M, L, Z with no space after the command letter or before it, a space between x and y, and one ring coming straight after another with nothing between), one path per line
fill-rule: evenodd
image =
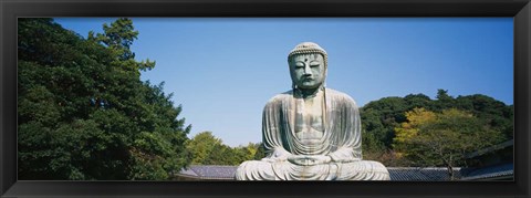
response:
M362 160L361 119L354 100L325 88L324 135L304 144L295 135L298 108L303 98L293 91L271 98L263 110L262 142L268 156L242 163L238 180L388 180L387 169L377 161ZM291 155L330 156L332 161L296 165L287 160Z

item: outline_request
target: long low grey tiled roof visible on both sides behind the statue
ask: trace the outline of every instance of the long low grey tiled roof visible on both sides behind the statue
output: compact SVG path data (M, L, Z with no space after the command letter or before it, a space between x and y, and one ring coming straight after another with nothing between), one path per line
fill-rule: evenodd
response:
M190 166L179 175L199 179L233 179L237 166ZM442 181L450 180L446 168L388 167L391 180ZM460 168L454 168L456 179L460 178Z

